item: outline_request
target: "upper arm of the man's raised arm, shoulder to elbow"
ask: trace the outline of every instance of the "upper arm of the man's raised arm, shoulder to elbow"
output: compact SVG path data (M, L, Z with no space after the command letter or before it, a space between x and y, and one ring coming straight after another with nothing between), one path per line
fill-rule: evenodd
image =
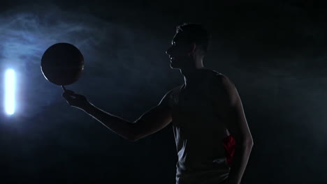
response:
M145 112L140 118L134 121L133 132L135 132L133 139L141 139L147 135L158 132L165 128L172 121L171 107L170 107L170 93L168 91L163 96L159 104L152 107Z

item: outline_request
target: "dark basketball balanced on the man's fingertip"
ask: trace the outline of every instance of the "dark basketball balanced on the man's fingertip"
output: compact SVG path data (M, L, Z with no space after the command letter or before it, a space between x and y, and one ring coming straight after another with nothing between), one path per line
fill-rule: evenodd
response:
M69 43L56 43L45 50L41 71L48 81L59 86L78 81L84 70L84 57L80 50Z

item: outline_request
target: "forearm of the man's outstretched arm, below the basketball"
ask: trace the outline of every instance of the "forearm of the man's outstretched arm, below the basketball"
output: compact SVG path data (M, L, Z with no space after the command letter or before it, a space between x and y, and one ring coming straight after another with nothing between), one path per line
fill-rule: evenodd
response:
M92 103L82 108L87 114L95 118L97 121L106 126L106 128L112 130L117 135L120 135L128 140L133 140L133 123L124 120L118 116L104 112L103 110L95 107Z

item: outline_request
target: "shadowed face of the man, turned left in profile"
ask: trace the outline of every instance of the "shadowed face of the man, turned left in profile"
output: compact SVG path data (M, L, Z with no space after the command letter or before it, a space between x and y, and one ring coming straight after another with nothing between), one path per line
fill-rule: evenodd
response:
M193 45L187 42L183 33L176 33L171 46L167 49L170 59L170 68L187 69L194 66L194 59L192 57Z

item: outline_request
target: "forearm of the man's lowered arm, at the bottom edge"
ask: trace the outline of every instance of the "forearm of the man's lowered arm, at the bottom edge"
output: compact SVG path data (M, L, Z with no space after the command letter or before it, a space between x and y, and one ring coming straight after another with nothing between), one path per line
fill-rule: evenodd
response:
M252 150L252 143L249 144L236 144L231 171L228 176L230 183L240 183L242 176L249 160L249 155Z

